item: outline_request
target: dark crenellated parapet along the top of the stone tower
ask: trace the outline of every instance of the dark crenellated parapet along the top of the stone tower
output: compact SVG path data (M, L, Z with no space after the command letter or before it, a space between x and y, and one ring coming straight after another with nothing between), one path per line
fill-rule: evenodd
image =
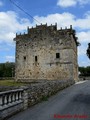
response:
M67 28L65 27L64 29L62 29L62 27L60 29L57 29L57 23L55 25L50 25L50 26L47 26L47 23L46 24L41 24L41 25L37 25L36 24L36 27L32 27L32 28L29 28L27 27L27 32L23 33L23 34L17 34L16 33L16 38L14 38L14 41L18 41L20 39L28 39L28 38L34 38L34 37L37 37L37 36L41 36L41 35L56 35L56 36L70 36L72 35L76 44L78 45L78 42L77 42L77 37L76 37L76 31L72 28L72 25L70 25L70 28Z

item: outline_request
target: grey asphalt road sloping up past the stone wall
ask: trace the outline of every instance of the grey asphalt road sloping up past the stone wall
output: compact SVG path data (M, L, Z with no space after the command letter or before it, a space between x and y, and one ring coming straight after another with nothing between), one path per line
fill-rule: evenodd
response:
M78 82L8 120L90 120L90 81Z

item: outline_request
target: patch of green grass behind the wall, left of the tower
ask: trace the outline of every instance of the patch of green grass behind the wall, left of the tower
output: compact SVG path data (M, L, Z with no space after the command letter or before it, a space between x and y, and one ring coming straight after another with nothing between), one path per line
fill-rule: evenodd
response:
M0 86L22 86L25 83L15 82L14 80L0 80Z

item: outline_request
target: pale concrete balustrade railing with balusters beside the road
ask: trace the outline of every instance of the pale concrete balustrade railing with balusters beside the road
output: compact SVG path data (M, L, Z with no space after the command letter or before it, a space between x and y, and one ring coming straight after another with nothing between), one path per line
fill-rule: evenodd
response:
M23 89L0 92L0 120L24 108L23 92Z

